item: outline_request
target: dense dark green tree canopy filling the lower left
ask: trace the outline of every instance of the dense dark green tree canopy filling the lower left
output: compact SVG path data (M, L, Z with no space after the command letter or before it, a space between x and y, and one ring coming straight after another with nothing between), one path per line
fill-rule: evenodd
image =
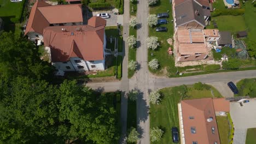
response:
M108 97L63 81L38 49L13 33L0 34L0 143L115 143L116 111Z

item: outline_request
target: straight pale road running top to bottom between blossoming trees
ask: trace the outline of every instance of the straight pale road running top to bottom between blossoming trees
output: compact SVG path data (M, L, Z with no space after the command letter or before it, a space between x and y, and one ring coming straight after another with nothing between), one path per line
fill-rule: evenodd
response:
M137 98L137 130L141 134L137 143L150 143L149 139L149 71L148 71L148 49L146 39L148 38L148 1L139 1L137 5L137 22L141 27L137 29L137 53L136 60L140 69L135 74L135 87L143 94Z

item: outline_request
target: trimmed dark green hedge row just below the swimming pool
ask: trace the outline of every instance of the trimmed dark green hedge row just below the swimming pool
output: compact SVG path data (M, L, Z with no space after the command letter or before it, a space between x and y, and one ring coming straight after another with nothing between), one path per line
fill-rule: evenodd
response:
M220 15L243 15L245 14L245 9L216 9L211 13L212 17Z

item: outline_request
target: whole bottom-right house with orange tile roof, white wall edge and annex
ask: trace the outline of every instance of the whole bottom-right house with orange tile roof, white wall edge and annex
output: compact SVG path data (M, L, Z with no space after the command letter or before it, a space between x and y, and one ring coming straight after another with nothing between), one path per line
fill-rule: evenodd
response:
M182 100L178 111L182 144L220 143L216 112L229 112L229 101L224 98Z

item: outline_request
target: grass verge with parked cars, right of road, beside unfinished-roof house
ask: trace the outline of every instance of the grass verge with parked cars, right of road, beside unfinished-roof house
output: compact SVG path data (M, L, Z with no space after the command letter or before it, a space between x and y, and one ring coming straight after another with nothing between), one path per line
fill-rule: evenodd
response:
M166 75L164 73L164 69L167 70L169 74L175 74L177 69L174 67L174 57L168 56L167 50L168 47L172 47L167 43L167 39L173 38L173 23L172 21L172 4L169 0L161 0L156 6L150 7L150 14L158 14L158 13L166 13L167 10L169 10L169 18L167 19L169 21L166 25L161 25L164 27L167 27L168 32L156 32L155 27L150 28L149 27L149 36L156 36L158 37L158 40L160 42L160 46L157 50L148 50L148 62L150 62L153 58L158 59L160 67L158 70L152 70L149 69L151 73L154 73L156 75ZM151 56L151 53L153 56Z

